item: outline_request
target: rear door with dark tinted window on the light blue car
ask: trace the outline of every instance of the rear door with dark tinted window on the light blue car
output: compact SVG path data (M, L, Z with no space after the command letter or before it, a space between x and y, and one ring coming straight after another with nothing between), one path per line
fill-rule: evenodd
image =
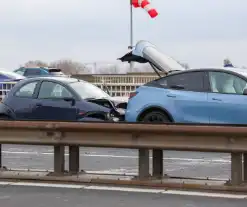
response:
M159 82L164 86L164 104L176 122L209 123L204 79L205 72L191 71L169 75Z

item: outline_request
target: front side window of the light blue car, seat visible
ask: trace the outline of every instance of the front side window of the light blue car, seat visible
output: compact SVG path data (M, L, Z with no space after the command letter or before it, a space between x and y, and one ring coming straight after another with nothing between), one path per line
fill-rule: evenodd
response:
M214 93L243 94L247 82L233 74L225 72L209 72L211 91Z

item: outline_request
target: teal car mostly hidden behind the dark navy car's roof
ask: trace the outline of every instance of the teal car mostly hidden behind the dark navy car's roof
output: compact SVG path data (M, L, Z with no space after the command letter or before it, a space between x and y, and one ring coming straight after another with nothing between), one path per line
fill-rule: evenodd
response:
M21 67L14 70L15 73L23 75L25 77L36 76L66 76L59 68L47 68L47 67Z

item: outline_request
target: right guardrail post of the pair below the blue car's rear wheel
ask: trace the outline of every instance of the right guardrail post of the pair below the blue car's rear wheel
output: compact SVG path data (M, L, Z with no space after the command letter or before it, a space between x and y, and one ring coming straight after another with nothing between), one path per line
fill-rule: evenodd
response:
M153 176L163 177L163 150L153 149Z

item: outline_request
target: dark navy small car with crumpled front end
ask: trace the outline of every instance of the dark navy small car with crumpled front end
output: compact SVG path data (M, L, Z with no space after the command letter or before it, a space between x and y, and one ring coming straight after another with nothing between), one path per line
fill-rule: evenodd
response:
M0 119L122 121L125 110L118 104L103 90L82 80L26 78L0 103Z

